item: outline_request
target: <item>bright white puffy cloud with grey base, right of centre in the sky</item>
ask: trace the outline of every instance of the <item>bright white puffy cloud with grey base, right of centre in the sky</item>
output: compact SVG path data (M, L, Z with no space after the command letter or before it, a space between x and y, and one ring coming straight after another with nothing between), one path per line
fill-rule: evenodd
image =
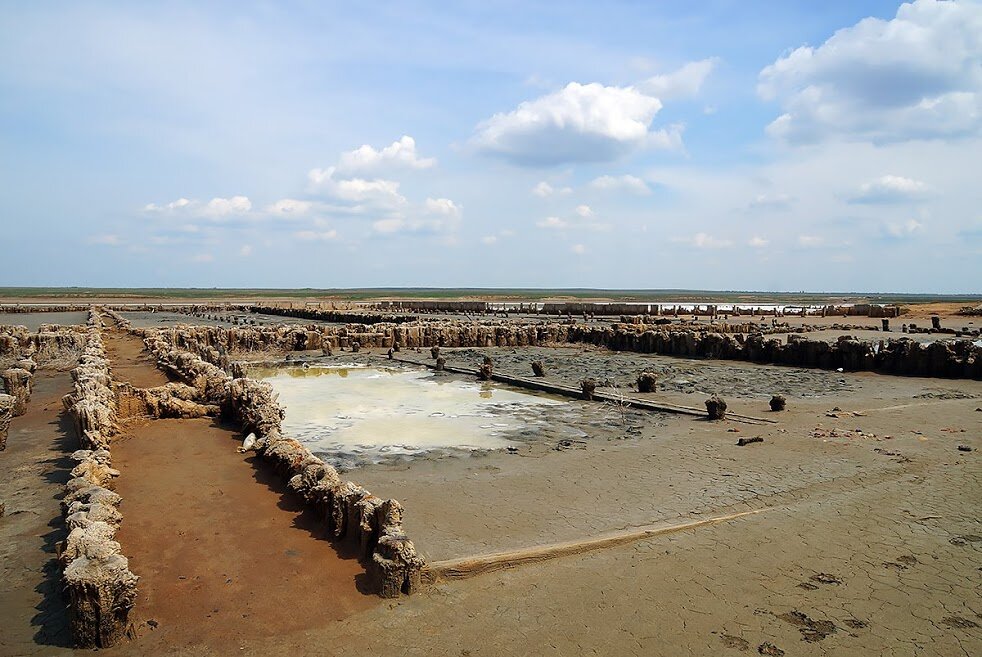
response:
M471 143L522 165L605 162L645 146L675 144L668 132L648 130L661 107L634 87L570 82L482 122Z

